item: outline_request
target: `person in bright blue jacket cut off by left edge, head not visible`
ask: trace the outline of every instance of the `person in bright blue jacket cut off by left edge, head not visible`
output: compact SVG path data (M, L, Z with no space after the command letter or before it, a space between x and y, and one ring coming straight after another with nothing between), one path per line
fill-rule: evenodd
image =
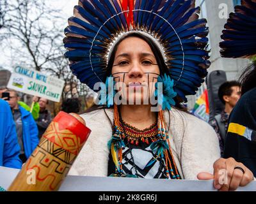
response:
M21 168L20 147L10 106L0 99L0 166Z

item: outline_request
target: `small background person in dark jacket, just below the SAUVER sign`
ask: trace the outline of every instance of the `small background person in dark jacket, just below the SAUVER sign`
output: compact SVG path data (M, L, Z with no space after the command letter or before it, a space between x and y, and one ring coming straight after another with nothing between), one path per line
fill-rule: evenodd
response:
M48 100L46 98L39 99L40 112L39 117L36 120L36 124L38 127L38 137L41 138L44 134L45 130L51 123L52 117L51 112L46 109L46 105L48 104Z

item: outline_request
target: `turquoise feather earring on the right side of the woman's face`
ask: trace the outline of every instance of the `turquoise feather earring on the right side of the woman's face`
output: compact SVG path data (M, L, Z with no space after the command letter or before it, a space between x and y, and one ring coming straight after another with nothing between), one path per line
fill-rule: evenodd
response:
M159 85L159 83L162 83L163 85ZM169 75L164 73L164 76L157 77L157 83L155 85L156 91L154 95L157 97L157 101L161 101L160 105L162 106L162 110L171 110L171 106L175 105L173 98L177 96L177 92L173 90L173 85L174 81Z

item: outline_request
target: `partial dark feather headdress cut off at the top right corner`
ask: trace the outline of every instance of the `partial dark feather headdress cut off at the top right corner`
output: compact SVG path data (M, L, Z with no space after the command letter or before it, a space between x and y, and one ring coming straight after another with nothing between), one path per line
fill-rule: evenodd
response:
M242 0L222 31L222 57L251 57L256 55L256 0Z

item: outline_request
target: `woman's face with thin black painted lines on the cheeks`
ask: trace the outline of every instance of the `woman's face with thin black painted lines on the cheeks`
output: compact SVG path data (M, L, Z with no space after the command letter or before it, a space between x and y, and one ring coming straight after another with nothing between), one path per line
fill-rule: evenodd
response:
M145 104L152 96L160 71L148 43L137 37L129 37L117 47L112 75L115 82L120 82L117 86L128 104L132 101L134 104L135 101L140 101L136 104Z

